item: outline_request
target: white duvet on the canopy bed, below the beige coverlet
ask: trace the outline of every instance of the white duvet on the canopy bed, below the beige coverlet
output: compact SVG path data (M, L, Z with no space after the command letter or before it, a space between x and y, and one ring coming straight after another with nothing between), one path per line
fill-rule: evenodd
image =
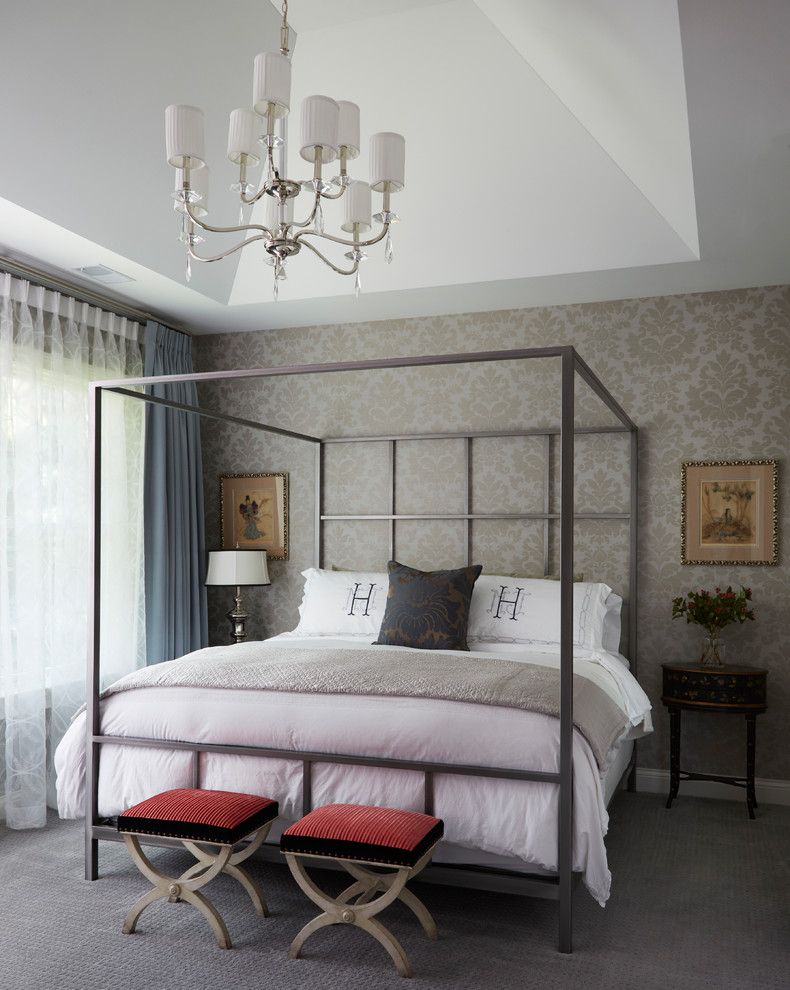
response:
M284 634L266 641L288 646L342 645L353 640L303 639ZM369 645L366 639L365 645ZM233 648L232 648L233 649ZM217 648L218 658L222 648ZM488 654L490 655L490 654ZM485 661L484 652L470 657ZM557 666L558 653L503 654L508 660ZM177 664L179 661L172 661ZM154 670L155 668L151 668ZM595 680L628 715L630 728L610 754L618 775L627 739L651 730L650 703L622 658L586 652L575 672ZM559 722L515 708L429 698L283 693L268 690L147 686L102 701L107 735L257 745L403 760L429 760L557 771ZM85 814L85 713L75 717L55 754L58 811ZM618 759L618 756L620 757ZM608 815L604 773L574 730L573 868L604 904L611 877L604 836ZM159 748L105 745L101 749L99 815L114 817L161 790L190 787L192 754ZM282 828L301 816L301 763L203 753L200 786L266 794L280 803ZM434 813L445 823L436 862L493 862L528 871L557 868L557 792L551 784L437 775ZM407 770L316 764L313 804L340 801L422 810L422 774Z

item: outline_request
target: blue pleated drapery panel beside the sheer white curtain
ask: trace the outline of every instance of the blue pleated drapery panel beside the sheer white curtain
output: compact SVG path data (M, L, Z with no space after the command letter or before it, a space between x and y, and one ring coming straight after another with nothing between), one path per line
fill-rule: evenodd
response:
M192 373L191 341L149 322L145 374ZM198 405L194 382L148 386L148 393ZM146 403L145 598L147 662L208 645L206 543L199 416Z

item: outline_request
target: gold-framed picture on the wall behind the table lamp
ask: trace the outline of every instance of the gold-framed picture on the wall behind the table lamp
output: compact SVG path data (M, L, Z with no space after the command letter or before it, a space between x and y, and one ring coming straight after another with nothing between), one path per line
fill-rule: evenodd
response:
M223 548L266 550L288 560L288 475L222 474L219 516Z

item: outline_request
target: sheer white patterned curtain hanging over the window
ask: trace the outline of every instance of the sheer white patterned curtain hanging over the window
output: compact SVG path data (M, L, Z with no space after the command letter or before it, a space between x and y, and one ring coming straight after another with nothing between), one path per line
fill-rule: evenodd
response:
M142 328L0 274L0 794L7 824L54 806L52 756L85 700L88 383L142 375ZM103 405L104 679L145 663L143 403Z

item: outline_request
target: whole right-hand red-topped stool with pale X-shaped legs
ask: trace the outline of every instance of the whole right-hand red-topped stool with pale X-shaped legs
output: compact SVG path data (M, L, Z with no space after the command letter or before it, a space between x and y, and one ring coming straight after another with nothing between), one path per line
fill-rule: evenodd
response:
M358 804L327 804L291 825L280 837L280 851L296 882L324 913L299 932L289 957L296 959L305 940L319 928L350 924L378 939L400 975L411 976L400 943L373 915L401 900L417 916L428 938L438 938L428 909L406 889L406 883L428 864L443 834L444 823L431 815ZM355 878L354 883L330 897L307 875L302 862L307 856L338 860Z

